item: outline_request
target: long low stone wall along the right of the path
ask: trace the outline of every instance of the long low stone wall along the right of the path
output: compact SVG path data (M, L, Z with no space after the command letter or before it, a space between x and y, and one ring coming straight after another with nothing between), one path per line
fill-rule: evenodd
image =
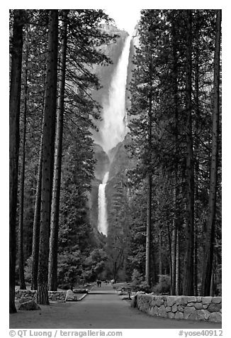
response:
M221 297L137 294L137 307L151 316L221 322Z

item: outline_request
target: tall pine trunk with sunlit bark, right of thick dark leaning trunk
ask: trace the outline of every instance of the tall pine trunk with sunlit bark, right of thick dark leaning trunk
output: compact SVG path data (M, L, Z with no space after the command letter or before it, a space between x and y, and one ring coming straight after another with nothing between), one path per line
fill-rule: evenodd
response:
M64 114L64 89L65 89L65 69L67 54L67 13L63 11L63 37L61 50L61 70L59 82L59 99L57 103L57 126L55 136L55 165L52 187L52 207L50 222L50 254L49 254L49 290L57 290L57 249L58 249L58 230L59 230L59 212L60 212L60 184L62 168L62 132L63 132L63 114Z

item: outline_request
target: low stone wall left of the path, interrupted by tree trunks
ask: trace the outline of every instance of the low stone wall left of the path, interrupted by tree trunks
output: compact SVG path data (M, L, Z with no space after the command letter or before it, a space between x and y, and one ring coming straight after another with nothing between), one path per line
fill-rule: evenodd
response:
M55 302L64 302L67 291L48 291L49 300ZM28 302L28 300L36 300L36 290L16 290L16 300L19 302Z

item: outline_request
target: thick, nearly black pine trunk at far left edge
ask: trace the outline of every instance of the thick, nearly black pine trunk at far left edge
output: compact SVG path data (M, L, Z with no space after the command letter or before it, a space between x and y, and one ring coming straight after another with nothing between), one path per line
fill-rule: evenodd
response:
M19 115L21 100L21 70L23 53L23 10L15 10L13 18L11 88L9 102L9 311L15 306L16 273L16 211L18 190Z

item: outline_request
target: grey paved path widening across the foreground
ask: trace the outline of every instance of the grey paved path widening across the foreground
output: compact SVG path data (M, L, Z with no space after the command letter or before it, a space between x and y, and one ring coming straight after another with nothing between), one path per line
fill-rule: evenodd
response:
M220 324L151 317L121 300L111 285L94 287L80 302L40 305L10 315L10 328L25 329L215 329Z

